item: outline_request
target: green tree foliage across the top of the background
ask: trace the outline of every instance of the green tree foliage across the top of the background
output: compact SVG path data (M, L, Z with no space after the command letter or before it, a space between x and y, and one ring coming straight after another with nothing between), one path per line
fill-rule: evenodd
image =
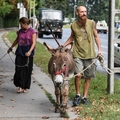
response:
M76 5L86 6L88 11L88 18L95 20L106 20L108 22L108 11L109 11L109 0L76 0ZM0 16L8 21L18 19L19 10L17 9L17 3L23 2L25 8L29 13L29 2L30 0L0 0ZM52 8L57 10L62 10L63 18L69 17L69 19L74 17L74 0L35 0L36 16L38 15L39 8ZM120 8L120 0L115 0L115 8ZM11 18L9 17L11 16ZM9 19L8 19L9 18ZM6 23L0 23L0 25L6 25ZM10 23L10 22L9 22ZM18 25L15 21L15 26ZM10 24L6 25L10 26ZM11 25L13 26L13 25Z

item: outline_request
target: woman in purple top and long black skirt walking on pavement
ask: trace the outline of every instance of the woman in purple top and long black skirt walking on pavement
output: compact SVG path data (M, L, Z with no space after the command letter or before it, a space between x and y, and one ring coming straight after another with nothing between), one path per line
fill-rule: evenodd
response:
M37 31L34 30L30 23L31 21L22 17L19 19L21 29L17 31L17 38L9 48L8 53L18 44L15 58L15 74L14 85L18 87L17 92L24 93L30 89L31 73L33 69L33 56L37 39Z

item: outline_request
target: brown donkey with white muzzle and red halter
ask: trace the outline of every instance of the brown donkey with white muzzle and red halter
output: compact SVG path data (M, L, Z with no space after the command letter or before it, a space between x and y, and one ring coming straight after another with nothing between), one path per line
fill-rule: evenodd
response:
M59 46L54 49L45 42L43 44L52 53L48 63L48 72L55 87L55 112L60 112L60 116L64 117L67 109L69 81L74 75L74 61L71 53L72 45L66 47Z

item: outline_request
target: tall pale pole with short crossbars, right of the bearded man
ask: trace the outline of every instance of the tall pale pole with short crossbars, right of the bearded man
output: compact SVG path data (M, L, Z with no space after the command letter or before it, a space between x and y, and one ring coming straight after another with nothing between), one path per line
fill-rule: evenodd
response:
M115 39L114 18L115 14L120 14L120 10L115 9L115 0L109 1L109 30L108 30L108 68L114 73L120 73L120 67L114 67L114 44L119 43L119 39ZM107 91L110 94L114 93L114 73L108 74Z

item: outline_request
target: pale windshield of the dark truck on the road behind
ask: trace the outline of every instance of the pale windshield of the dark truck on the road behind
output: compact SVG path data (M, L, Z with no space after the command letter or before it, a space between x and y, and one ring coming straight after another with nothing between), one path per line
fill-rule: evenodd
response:
M42 11L42 19L62 20L61 11Z

